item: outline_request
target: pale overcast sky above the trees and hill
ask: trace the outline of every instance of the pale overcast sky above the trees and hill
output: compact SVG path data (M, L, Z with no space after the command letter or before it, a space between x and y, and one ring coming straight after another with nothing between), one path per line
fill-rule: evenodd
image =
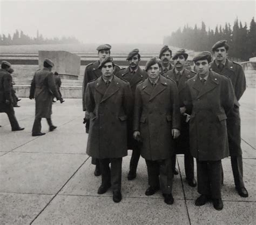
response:
M0 32L75 36L83 43L163 43L185 24L250 25L255 1L2 1Z

